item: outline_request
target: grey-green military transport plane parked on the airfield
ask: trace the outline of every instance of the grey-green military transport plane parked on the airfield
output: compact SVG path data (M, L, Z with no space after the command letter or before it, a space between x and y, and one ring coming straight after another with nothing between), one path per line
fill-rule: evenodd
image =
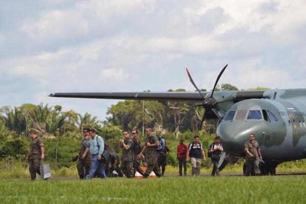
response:
M169 101L198 103L188 107L205 109L199 129L205 119L221 121L217 128L224 148L220 169L245 156L244 143L250 134L254 134L260 144L262 174L275 174L278 164L306 158L306 89L215 91L226 67L219 73L211 92L199 91L186 68L197 92L53 93L49 96L157 100L164 105Z

